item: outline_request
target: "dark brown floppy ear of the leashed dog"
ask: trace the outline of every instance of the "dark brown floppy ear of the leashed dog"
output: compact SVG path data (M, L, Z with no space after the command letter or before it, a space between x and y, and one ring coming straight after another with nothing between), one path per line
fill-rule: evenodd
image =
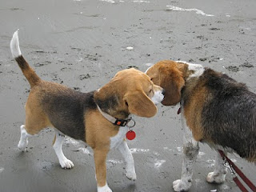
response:
M165 90L165 97L162 100L164 106L174 106L181 100L182 87L185 85L185 80L182 77L182 72L177 67L171 68L161 67L160 71L160 86Z

